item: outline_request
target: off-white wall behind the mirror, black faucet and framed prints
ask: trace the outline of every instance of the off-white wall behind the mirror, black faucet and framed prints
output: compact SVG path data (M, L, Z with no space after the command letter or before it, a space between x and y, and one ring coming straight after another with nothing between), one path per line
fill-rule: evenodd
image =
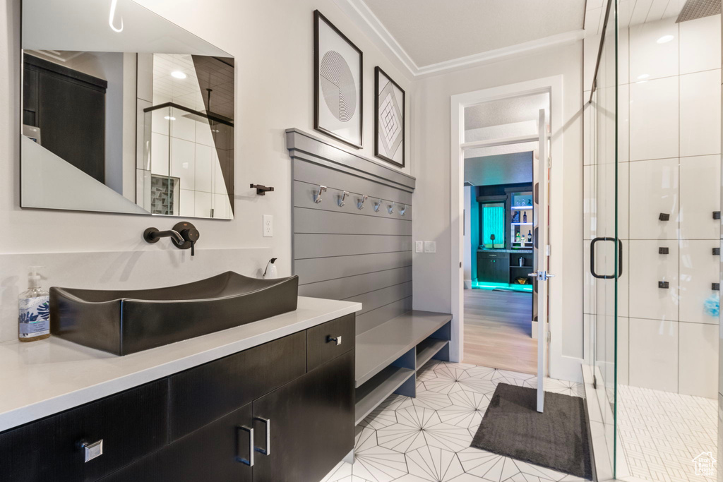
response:
M283 132L289 127L313 128L314 9L320 9L364 52L361 154L373 157L370 99L376 65L407 91L411 119L411 82L333 0L139 3L236 57L236 218L193 220L201 238L197 256L190 259L170 242L150 245L141 239L145 228L171 228L178 218L20 209L20 1L4 0L0 9L0 341L17 336L17 293L25 291L27 264L46 266L41 270L46 286L73 283L87 288L185 283L230 269L257 275L272 256L278 257L280 274L290 274L291 164ZM407 123L407 139L411 124ZM251 183L276 190L259 197L249 189ZM262 214L274 216L273 238L262 237Z

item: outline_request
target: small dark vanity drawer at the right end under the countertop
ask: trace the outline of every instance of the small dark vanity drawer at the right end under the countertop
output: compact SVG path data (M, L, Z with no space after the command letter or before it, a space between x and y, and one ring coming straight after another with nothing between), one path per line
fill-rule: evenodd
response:
M354 349L355 319L352 313L307 330L307 371Z

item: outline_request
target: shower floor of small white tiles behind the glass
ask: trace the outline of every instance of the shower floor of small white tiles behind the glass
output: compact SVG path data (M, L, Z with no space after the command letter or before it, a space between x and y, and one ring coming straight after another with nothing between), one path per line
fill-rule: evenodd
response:
M653 482L716 481L695 475L693 457L717 457L717 400L617 386L617 433L633 477Z

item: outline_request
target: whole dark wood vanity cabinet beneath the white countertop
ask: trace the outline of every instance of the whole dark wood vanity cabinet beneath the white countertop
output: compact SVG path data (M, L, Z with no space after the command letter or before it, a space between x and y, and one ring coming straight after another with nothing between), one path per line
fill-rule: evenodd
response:
M354 315L6 431L0 482L319 481L354 447L347 332Z

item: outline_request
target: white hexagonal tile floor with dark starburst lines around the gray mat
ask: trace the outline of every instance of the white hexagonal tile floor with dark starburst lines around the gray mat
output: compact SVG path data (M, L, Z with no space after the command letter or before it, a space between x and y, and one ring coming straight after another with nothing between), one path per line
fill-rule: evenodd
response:
M579 482L583 478L470 447L500 382L536 388L514 371L429 361L416 397L391 395L356 427L354 464L322 482ZM582 384L545 380L545 391L584 396Z

